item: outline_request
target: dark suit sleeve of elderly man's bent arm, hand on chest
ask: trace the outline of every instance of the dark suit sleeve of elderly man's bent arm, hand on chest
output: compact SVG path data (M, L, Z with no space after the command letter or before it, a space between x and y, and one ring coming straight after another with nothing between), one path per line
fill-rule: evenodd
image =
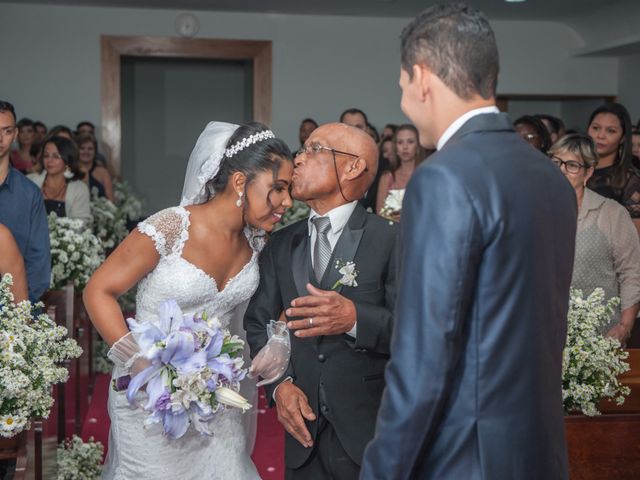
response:
M389 255L384 273L384 305L355 302L357 333L356 348L389 354L393 310L396 302L396 242Z

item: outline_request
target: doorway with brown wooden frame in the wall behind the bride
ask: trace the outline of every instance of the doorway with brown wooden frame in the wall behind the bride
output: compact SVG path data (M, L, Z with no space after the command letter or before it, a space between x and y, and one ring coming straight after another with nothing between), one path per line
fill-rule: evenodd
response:
M102 36L101 51L101 147L147 213L179 200L207 121L271 123L270 41Z

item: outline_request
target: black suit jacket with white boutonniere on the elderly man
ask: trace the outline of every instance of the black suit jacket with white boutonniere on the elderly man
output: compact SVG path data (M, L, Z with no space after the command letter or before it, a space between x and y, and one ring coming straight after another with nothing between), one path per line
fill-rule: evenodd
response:
M314 413L332 423L343 447L358 464L373 437L389 359L396 296L395 239L395 225L357 205L317 285L311 268L307 220L278 231L260 256L260 285L244 320L254 356L267 342L266 324L278 319L294 298L308 295L307 283L330 290L341 277L336 260L355 262L358 286L336 290L355 304L356 338L347 334L306 339L291 335L291 361L283 378L293 377ZM267 388L269 398L277 384ZM315 438L317 421L308 422L308 428ZM287 467L300 467L310 453L311 449L287 434Z

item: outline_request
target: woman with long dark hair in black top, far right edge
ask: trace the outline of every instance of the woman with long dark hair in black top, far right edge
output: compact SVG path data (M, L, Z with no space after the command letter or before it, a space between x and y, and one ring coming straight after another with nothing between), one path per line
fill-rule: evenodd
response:
M640 231L640 173L632 164L629 112L619 103L606 103L591 114L587 133L599 157L587 186L624 206Z

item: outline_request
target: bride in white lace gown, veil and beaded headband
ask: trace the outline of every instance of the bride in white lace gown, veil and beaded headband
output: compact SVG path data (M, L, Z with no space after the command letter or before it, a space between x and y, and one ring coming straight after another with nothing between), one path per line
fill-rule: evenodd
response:
M116 301L138 282L138 322L157 321L158 306L169 299L184 313L206 311L223 326L238 317L258 286L263 231L273 230L292 204L292 170L289 148L264 125L207 125L189 158L180 206L140 223L85 289L91 320L112 345L114 378L133 377L148 365L136 355ZM215 417L213 436L190 429L177 440L162 435L160 425L145 427L147 413L132 409L124 391L110 390L109 416L103 478L259 478L237 409Z

